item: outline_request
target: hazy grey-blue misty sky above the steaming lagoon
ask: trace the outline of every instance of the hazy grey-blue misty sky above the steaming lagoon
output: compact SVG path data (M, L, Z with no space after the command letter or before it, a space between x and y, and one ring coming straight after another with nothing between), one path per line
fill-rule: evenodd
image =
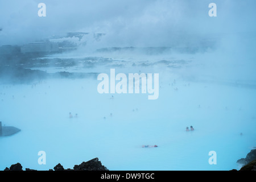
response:
M46 17L38 4L46 4ZM217 17L209 17L209 3ZM0 45L67 32L105 33L102 46L170 46L201 36L255 32L254 0L0 1Z

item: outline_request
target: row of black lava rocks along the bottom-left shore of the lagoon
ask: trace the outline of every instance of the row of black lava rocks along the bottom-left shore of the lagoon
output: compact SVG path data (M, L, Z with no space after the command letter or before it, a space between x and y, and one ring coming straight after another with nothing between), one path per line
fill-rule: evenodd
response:
M75 165L73 169L64 169L61 164L57 164L53 169L49 169L49 171L109 171L108 168L103 166L98 158L94 158L89 160L88 162L82 162L80 165ZM3 171L24 171L22 169L22 165L20 163L16 163L11 165L10 168L6 167ZM25 171L37 171L36 169L26 168Z

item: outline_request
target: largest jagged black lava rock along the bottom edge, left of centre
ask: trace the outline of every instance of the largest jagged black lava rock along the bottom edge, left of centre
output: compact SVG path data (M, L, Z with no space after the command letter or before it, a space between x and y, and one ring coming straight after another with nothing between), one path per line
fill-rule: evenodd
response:
M109 171L105 166L102 166L98 158L89 160L88 162L82 162L80 165L75 165L75 171Z

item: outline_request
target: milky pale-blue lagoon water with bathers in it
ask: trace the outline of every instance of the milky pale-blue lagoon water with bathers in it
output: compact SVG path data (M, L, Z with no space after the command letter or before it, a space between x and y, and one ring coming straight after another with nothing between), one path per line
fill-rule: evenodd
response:
M57 163L73 168L96 157L110 170L241 167L236 161L256 143L255 89L188 81L164 65L135 68L159 72L158 100L147 100L147 94L99 94L93 78L0 85L0 119L21 129L0 138L0 169L18 162L23 169L46 170ZM69 112L78 117L69 118ZM191 125L195 131L186 132ZM159 147L142 148L146 144ZM46 152L46 165L38 164L39 151ZM209 151L217 152L217 165L208 163Z

